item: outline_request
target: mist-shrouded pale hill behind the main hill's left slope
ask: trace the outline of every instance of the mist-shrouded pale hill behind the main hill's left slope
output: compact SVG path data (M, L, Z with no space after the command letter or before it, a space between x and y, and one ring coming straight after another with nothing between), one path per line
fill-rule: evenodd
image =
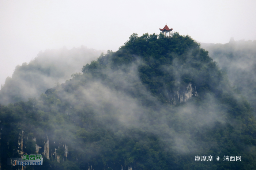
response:
M0 90L0 104L39 97L48 88L72 78L72 74L82 72L82 66L102 52L85 46L41 51L29 63L16 66L12 77L6 78Z

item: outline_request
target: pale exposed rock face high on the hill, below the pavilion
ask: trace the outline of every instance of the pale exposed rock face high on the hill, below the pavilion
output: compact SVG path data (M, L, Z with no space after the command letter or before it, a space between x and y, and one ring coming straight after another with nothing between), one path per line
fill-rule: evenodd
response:
M191 82L189 82L186 91L185 90L177 91L173 95L173 97L171 97L170 103L172 103L173 105L176 105L178 103L186 102L192 96L198 96L198 93L196 92L196 86L193 88Z

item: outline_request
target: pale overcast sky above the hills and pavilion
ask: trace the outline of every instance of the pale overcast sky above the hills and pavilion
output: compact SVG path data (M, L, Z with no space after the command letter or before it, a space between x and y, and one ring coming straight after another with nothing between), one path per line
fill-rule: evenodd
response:
M205 43L256 39L256 0L0 0L0 84L39 51L118 50L165 24Z

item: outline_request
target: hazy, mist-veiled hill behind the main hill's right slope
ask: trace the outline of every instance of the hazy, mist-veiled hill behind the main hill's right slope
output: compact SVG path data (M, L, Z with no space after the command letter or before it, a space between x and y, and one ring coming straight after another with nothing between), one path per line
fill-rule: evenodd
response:
M234 89L248 99L256 115L256 40L231 38L226 44L201 44L227 73Z

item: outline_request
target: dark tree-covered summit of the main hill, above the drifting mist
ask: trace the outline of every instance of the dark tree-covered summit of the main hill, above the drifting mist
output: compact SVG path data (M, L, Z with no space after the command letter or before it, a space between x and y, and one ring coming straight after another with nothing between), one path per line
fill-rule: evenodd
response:
M182 97L183 101L186 99L189 84L193 89L191 95L203 95L205 92L219 94L220 81L223 80L221 71L208 52L200 49L199 44L189 36L183 37L177 32L169 39L157 38L155 34L141 37L133 34L117 52L108 51L105 56L84 66L82 72L104 79L106 77L102 73L108 69L113 73L136 69L139 81L153 96L157 95L163 103L172 104L180 102Z

